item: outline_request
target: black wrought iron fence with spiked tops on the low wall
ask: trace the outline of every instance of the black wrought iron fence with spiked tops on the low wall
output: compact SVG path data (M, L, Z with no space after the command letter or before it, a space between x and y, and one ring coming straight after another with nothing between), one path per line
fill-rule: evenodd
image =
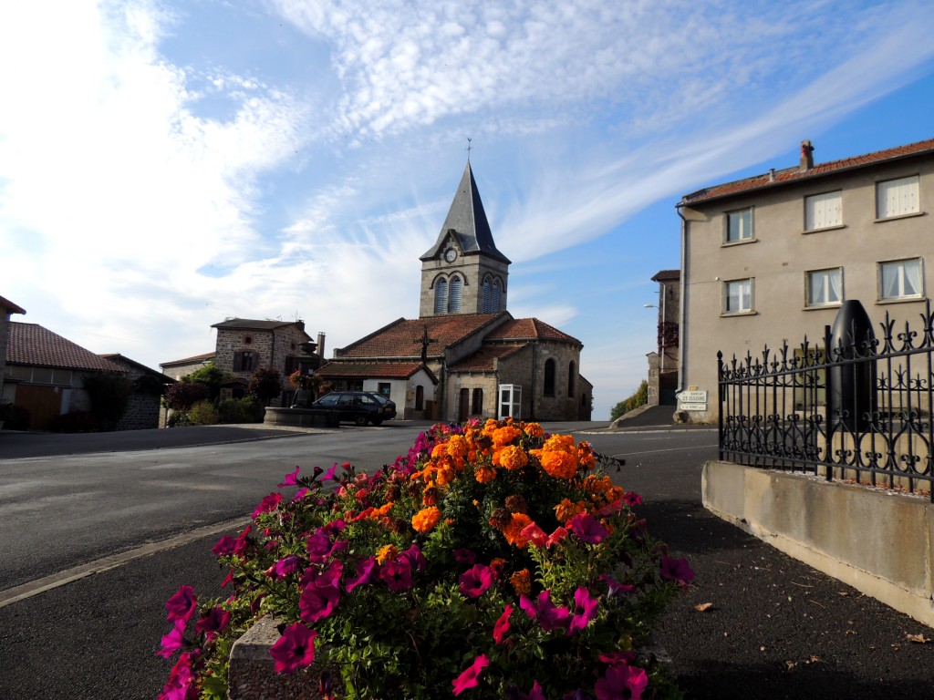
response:
M858 307L858 308L856 308ZM717 353L720 458L926 494L934 502L934 317L885 314L875 337L844 302L823 344Z

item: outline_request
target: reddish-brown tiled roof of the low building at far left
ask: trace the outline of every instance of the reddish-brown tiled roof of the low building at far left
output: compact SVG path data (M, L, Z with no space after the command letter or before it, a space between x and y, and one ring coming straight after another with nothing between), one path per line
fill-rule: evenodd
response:
M15 321L9 324L7 364L125 373L120 365L85 350L49 329L35 323Z

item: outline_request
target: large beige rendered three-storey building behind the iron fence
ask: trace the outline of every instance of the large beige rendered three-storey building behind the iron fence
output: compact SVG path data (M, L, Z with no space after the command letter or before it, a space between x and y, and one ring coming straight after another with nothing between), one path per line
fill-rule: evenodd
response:
M875 328L886 312L918 318L934 263L934 139L800 163L685 195L680 305L681 391L691 420L716 420L716 353L823 343L842 301Z

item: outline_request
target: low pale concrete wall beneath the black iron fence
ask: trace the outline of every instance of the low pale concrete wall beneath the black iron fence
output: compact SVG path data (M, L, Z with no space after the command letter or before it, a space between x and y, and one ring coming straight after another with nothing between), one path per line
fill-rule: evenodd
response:
M934 627L934 504L814 476L708 462L704 507Z

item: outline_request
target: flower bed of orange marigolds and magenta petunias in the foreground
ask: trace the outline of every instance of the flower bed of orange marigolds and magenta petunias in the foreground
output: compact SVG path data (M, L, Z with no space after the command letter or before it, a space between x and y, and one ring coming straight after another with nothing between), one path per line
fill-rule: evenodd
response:
M679 697L639 651L693 573L600 461L489 420L436 425L372 475L296 468L215 545L230 595L166 603L162 697L225 697L233 641L267 614L276 671L314 664L323 698Z

